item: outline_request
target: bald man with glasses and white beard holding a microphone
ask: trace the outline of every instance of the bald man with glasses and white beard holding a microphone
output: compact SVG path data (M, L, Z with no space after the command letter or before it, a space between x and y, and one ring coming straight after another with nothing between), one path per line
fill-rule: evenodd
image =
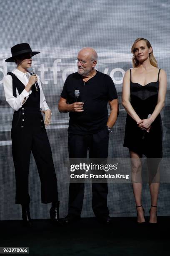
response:
M95 69L97 53L90 47L77 55L76 73L70 74L64 84L58 109L69 112L69 159L107 159L109 133L118 114L118 100L112 79ZM79 90L76 102L75 90ZM110 105L108 117L107 103ZM92 183L92 210L106 224L110 224L107 207L107 181ZM65 224L80 218L84 198L84 183L70 183L68 214Z

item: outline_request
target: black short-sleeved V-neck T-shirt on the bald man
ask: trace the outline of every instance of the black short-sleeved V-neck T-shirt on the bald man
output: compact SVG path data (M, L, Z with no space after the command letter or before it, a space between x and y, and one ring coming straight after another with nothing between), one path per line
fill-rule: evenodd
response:
M61 97L67 99L67 103L72 104L76 102L75 90L80 92L80 102L84 102L84 111L69 113L68 132L92 134L100 131L108 120L108 100L117 99L117 92L111 77L97 71L94 77L84 82L78 72L70 74L65 81Z

